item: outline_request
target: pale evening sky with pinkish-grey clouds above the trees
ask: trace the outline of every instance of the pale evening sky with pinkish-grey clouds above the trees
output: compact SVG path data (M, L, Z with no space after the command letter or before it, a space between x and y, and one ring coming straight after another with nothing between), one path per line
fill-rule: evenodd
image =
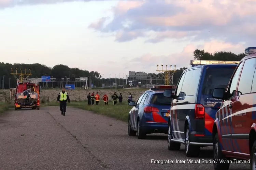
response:
M256 0L0 0L0 62L121 77L256 46Z

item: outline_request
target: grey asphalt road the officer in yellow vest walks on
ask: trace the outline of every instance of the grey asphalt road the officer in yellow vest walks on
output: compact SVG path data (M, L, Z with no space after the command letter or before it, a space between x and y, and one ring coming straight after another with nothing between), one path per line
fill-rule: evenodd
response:
M0 118L0 170L213 170L210 164L189 164L184 146L167 149L167 135L139 140L127 134L128 125L102 115L58 107L11 111ZM212 148L199 158L211 160ZM154 164L154 160L172 160ZM185 163L175 163L185 160ZM249 170L249 164L231 164L230 170Z

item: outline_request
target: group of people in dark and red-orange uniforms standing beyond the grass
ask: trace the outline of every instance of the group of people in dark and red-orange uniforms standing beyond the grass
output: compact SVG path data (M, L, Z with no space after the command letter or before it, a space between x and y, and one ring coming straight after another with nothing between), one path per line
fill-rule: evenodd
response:
M114 105L117 105L117 100L119 100L119 104L123 102L122 93L120 93L120 95L117 96L116 92L114 92L111 98L113 99ZM132 101L132 98L133 96L130 93L130 95L128 96L128 102ZM96 101L96 105L98 105L100 101L100 95L98 92L96 92L96 95L94 94L94 92L92 94L89 92L89 94L87 95L87 100L88 100L88 105L94 105L94 101ZM109 97L108 95L106 95L106 93L102 97L102 100L104 102L104 105L109 105Z

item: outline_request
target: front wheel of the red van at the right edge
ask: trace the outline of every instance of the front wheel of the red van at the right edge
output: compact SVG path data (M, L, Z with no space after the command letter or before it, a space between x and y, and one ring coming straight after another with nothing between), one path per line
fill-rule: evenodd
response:
M219 160L229 160L226 158L226 156L222 153L221 147L219 146L219 137L218 134L215 134L214 140L213 140L213 157L214 157L214 163L213 167L214 170L228 170L229 169L229 163L220 163Z

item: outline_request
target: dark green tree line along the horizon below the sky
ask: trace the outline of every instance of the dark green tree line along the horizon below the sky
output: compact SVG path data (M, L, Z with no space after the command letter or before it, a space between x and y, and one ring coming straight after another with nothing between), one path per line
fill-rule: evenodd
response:
M221 60L221 61L240 61L244 56L246 56L245 53L240 54L234 54L232 52L227 51L216 51L213 54L209 52L205 52L204 50L196 49L194 51L194 60ZM188 61L189 62L189 61ZM0 82L1 82L1 89L4 87L5 89L8 89L9 87L15 88L16 87L16 79L13 75L11 75L11 69L13 69L13 73L17 72L20 73L20 69L22 69L22 73L25 73L25 69L27 73L29 73L29 69L31 71L31 74L29 78L41 78L43 75L49 75L53 78L79 78L79 77L91 77L91 83L96 85L97 87L104 83L105 86L109 86L110 82L117 83L117 85L124 85L126 84L126 79L119 79L119 78L111 78L111 79L101 79L101 74L97 71L88 71L88 70L82 70L79 68L69 68L66 65L56 65L54 67L48 67L42 64L19 64L19 63L0 63ZM177 72L173 75L173 84L176 85L177 82L180 79L180 76L182 72L187 69L186 67L177 69ZM163 77L160 73L149 73L152 74L152 79L158 79L159 81L152 81L152 84L163 84ZM150 78L147 78L148 80L142 81L146 84L150 83ZM162 81L161 81L162 80ZM129 80L128 80L129 81ZM137 81L138 82L138 81ZM76 87L81 87L83 83L71 83L75 84ZM43 83L39 84L40 86L44 86ZM88 81L89 85L89 81ZM59 83L54 82L51 83L51 87L57 87L59 86Z

